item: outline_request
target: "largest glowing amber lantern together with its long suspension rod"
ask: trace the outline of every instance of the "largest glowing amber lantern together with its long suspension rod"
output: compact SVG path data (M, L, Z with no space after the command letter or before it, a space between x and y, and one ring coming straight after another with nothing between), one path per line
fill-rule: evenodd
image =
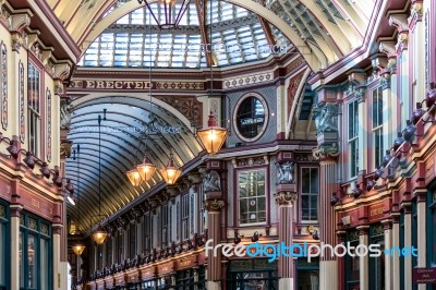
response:
M211 3L210 3L210 10L209 10L209 17L210 17L210 23L209 23L209 40L210 44L209 46L211 47L211 22L213 22L213 11L211 11ZM210 62L210 96L214 96L214 58L211 55L213 49L210 49L210 57L209 57L209 62ZM207 121L207 128L198 130L197 135L199 137L199 141L202 142L203 147L206 149L208 154L217 154L222 145L225 144L226 137L228 135L228 131L225 128L218 126L217 119L214 114L213 111L210 111L209 114L209 120Z

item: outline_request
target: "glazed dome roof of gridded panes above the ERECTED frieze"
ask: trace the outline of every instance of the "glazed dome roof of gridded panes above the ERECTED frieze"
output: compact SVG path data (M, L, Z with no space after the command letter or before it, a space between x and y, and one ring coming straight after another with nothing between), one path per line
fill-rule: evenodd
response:
M207 44L202 38L201 20L196 1L189 4L178 28L160 31L146 7L132 11L110 25L94 40L82 57L82 67L131 68L206 68ZM280 49L272 49L261 21L254 13L222 1L211 3L206 13L204 32L208 39L211 28L214 64L228 67L266 59L274 53L284 53L291 44L282 34L269 29ZM164 8L153 3L155 15L164 16ZM108 11L116 9L111 8ZM178 11L178 9L177 9ZM210 7L207 8L207 12ZM265 23L266 25L269 25Z

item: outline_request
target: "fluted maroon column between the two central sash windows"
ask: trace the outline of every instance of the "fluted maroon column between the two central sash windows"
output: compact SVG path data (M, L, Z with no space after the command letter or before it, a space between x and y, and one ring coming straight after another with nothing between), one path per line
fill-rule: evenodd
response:
M278 186L278 189L281 189ZM298 200L295 192L278 192L275 195L276 203L279 206L279 242L287 245L292 244L293 240L293 208ZM279 290L295 289L294 280L294 258L293 256L281 256L278 259Z

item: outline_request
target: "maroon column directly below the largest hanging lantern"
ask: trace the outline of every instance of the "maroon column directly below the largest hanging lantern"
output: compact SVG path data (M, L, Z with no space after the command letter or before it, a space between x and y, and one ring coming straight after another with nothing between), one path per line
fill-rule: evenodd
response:
M214 196L221 196L221 192L208 192L207 201L204 203L204 207L207 210L207 232L208 240L211 240L209 246L210 250L206 250L207 253L207 289L208 290L220 290L221 289L221 253L218 252L217 256L214 256L213 247L219 244L221 241L221 209L225 207L222 200L213 198Z

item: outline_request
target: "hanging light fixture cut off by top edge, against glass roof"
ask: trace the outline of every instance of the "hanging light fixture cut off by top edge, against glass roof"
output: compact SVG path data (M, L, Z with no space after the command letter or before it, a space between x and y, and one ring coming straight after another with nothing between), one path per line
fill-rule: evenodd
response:
M160 29L172 29L179 26L179 23L182 20L183 14L186 12L191 0L158 0L157 10L153 10L153 1L150 0L137 0L137 2L140 4L145 3L152 14L152 17L155 20ZM157 15L155 12L157 12Z

